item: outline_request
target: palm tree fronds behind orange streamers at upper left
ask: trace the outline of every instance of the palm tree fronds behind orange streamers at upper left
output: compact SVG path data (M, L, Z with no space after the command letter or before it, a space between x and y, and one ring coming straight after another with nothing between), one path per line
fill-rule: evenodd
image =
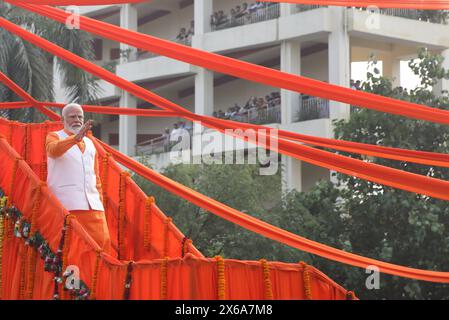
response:
M24 11L7 3L0 3L0 17L41 36L83 58L93 58L92 38L85 32ZM68 99L90 103L97 99L96 80L83 70L53 57L51 54L0 29L0 71L40 101L54 101L53 60L62 74L62 84ZM20 101L9 88L0 84L0 101ZM0 110L0 116L22 122L43 119L34 108Z

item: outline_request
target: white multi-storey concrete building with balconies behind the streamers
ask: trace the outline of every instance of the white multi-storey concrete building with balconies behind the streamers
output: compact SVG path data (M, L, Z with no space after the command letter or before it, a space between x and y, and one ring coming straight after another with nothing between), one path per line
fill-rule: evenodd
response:
M256 8L248 2L250 13L231 17L231 11L237 6L243 8L243 3L242 0L153 0L137 5L82 7L81 14L345 87L350 85L351 63L367 61L371 55L382 61L383 75L398 85L400 62L416 57L420 47L441 52L447 57L446 64L449 63L449 26L424 21L417 10L367 11L277 3ZM227 18L212 24L211 16L220 11ZM192 21L194 34L176 39L182 28L188 31L192 27ZM252 96L263 98L275 92L280 96L278 103L246 112L238 120L329 138L333 137L332 120L350 115L350 107L343 103L217 74L107 39L95 39L95 51L95 62L99 65L114 68L120 77L197 114L216 115L220 110L224 113L235 104L244 106ZM104 81L101 87L101 101L105 105L148 107L148 103ZM435 88L442 89L449 89L448 81ZM57 90L57 101L65 102L63 90ZM160 169L171 160L159 148L161 140L157 138L180 120L112 116L105 119L99 132L103 141L128 155L148 154L150 163ZM236 147L224 148L232 151ZM224 150L214 150L221 151ZM330 179L328 170L308 163L283 156L282 164L284 189L307 190L318 179Z

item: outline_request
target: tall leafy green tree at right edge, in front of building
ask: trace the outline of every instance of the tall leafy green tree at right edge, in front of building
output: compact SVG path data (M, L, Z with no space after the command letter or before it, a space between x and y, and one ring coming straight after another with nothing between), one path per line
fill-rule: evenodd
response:
M422 49L419 59L409 63L421 78L421 85L410 92L393 88L389 79L378 72L368 73L363 90L439 109L449 109L447 92L435 95L430 89L449 72L442 68L443 58ZM375 63L375 62L373 62ZM342 140L378 144L397 148L448 153L449 128L426 121L354 108L349 121L336 123L336 136ZM354 158L363 157L345 154ZM449 170L401 161L370 158L365 160L404 171L448 180ZM354 177L339 174L340 219L350 251L395 264L427 269L447 270L449 254L449 207L446 201L413 194ZM335 218L316 212L323 220ZM332 220L330 220L332 221ZM335 224L332 221L331 224ZM337 234L335 234L337 235ZM333 278L341 279L363 298L447 299L448 286L381 276L380 290L367 290L367 274L356 268L335 268L321 261L318 266ZM357 276L358 275L358 276Z

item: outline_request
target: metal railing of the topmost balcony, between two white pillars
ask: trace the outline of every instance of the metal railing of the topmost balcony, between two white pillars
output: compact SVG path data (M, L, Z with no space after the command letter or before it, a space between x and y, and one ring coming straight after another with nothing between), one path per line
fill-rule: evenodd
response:
M243 26L246 24L257 23L261 21L267 21L271 19L277 19L280 15L279 3L269 5L265 8L259 8L254 12L250 12L243 17L226 17L226 20L217 25L211 25L212 31L223 30L233 28L237 26Z

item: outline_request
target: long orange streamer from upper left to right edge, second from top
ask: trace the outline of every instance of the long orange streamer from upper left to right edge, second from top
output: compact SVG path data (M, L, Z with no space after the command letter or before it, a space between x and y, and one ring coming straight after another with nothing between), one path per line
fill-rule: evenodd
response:
M64 60L67 60L79 67L82 67L86 71L97 75L111 83L116 84L117 86L123 88L124 90L134 94L137 97L140 97L148 102L154 102L160 107L164 107L167 109L173 109L179 112L187 112L180 106L165 100L157 95L154 95L147 90L130 83L120 77L117 77L115 74L103 70L102 68L96 66L95 64L82 59L71 52L64 50L45 39L42 39L36 35L33 35L30 32L16 26L13 23L8 22L5 19L0 18L0 25L6 28L7 30L13 32L14 34L19 35L20 37L28 40L35 45L45 48L45 50L55 54L56 56L61 57ZM270 69L271 70L271 69ZM343 90L343 88L340 88ZM350 90L350 89L347 89ZM353 91L353 90L350 90ZM359 92L360 93L360 92ZM376 99L382 99L382 97L376 95L370 95L370 97L376 97ZM396 100L392 99L397 103ZM377 100L376 100L377 101ZM422 108L418 106L418 108ZM397 108L396 108L397 109ZM432 112L437 112L433 108ZM416 113L417 110L414 110L413 113ZM447 114L449 112L445 111ZM202 117L193 113L188 113L185 116L186 118L190 118L192 120L201 120ZM438 119L444 118L443 115L439 115ZM448 118L449 120L449 118ZM220 132L225 130L217 128L215 126L211 126ZM228 132L225 132L228 133ZM229 134L229 133L228 133ZM240 135L237 137L242 138ZM266 138L266 135L258 134L258 138ZM247 138L244 138L247 139ZM336 170L348 175L352 175L361 179L370 180L375 183L384 184L387 186L395 187L398 189L403 189L411 192L416 192L444 200L449 200L449 182L433 179L430 177L425 177L421 175L411 174L400 170L391 169L388 167L383 167L380 165L375 165L372 163L365 163L363 161L355 160L352 158L347 158L339 155L335 155L322 150L314 150L313 148L298 145L289 141L279 140L278 145L279 148L275 148L271 145L266 145L265 143L261 143L258 139L256 141L249 140L250 142L257 143L259 146L262 146L266 149L269 149L274 152L281 152L282 154L292 156L298 160L309 162L313 165L321 166L330 170Z

